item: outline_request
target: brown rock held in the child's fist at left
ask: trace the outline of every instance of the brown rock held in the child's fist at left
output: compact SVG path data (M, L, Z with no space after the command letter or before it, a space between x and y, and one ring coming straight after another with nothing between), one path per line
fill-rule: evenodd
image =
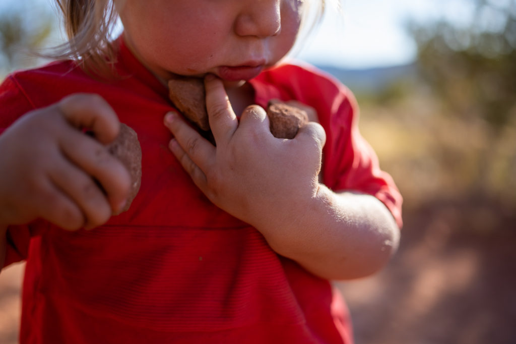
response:
M131 191L127 197L124 212L131 206L131 202L138 194L141 184L141 147L136 132L126 124L120 124L117 138L107 146L108 151L117 157L131 175Z

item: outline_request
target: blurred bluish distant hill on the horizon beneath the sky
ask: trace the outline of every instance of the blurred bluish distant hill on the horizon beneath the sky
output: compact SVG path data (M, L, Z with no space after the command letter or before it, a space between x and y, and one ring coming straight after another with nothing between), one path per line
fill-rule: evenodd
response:
M368 69L341 69L332 66L317 66L349 87L353 92L380 91L395 81L415 79L415 64Z

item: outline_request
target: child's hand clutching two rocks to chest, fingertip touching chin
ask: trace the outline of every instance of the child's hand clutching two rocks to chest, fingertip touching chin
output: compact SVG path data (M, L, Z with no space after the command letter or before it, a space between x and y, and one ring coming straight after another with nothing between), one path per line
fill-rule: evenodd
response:
M298 220L300 202L319 188L324 129L309 122L292 140L275 138L262 107L247 107L238 121L222 82L208 76L205 88L217 146L178 114L168 114L175 157L209 200L255 228L273 230Z

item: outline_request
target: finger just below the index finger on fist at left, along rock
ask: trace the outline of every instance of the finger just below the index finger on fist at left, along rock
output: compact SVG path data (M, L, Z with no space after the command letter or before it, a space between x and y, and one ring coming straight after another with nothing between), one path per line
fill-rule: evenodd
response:
M73 164L99 182L112 212L120 211L131 188L131 176L125 166L105 146L79 131L68 131L59 145Z

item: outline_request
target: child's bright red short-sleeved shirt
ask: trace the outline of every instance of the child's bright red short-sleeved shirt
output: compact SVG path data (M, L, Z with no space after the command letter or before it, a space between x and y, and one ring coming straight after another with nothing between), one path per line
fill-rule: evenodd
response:
M131 209L90 231L43 221L8 229L6 264L26 259L24 343L351 343L340 295L215 207L167 148L167 89L122 44L120 78L71 61L0 86L0 128L75 92L104 97L138 133L142 181ZM351 93L328 75L283 65L251 81L257 104L296 99L327 133L323 181L378 197L401 224L401 198L356 127Z

